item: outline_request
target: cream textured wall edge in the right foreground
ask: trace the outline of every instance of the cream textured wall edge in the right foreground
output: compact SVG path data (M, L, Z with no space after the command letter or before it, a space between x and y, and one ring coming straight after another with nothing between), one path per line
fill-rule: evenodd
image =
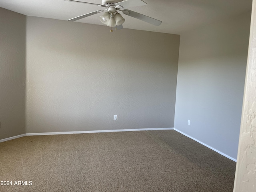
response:
M234 192L256 191L256 2L252 6L250 44Z

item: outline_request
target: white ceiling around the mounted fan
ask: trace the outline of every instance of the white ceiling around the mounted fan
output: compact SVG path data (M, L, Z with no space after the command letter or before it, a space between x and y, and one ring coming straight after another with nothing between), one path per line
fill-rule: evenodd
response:
M80 1L102 4L101 0ZM154 26L121 13L126 19L124 28L182 34L187 30L232 17L252 8L252 0L144 0L144 2L147 5L129 9L161 20L162 24ZM90 4L63 0L0 0L0 7L27 16L60 20L68 20L102 9ZM104 25L99 20L102 14L95 14L76 22Z

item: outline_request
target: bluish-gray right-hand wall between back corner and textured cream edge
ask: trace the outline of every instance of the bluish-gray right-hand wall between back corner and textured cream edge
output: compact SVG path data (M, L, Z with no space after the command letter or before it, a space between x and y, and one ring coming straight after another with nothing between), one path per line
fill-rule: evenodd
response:
M249 32L247 12L180 36L174 128L234 159Z

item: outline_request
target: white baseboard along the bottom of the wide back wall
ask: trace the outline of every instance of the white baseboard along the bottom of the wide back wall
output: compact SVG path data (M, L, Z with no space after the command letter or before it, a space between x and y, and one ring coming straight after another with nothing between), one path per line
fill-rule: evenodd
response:
M67 132L45 132L45 133L27 133L27 136L33 135L63 135L80 133L106 133L106 132L124 132L124 131L152 131L152 130L173 130L174 128L145 128L145 129L116 129L116 130L96 130L96 131L67 131Z

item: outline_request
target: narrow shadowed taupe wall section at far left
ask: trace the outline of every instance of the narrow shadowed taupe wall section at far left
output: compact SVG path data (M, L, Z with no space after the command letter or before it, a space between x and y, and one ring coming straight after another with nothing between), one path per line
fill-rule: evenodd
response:
M0 139L25 133L26 16L0 8Z

